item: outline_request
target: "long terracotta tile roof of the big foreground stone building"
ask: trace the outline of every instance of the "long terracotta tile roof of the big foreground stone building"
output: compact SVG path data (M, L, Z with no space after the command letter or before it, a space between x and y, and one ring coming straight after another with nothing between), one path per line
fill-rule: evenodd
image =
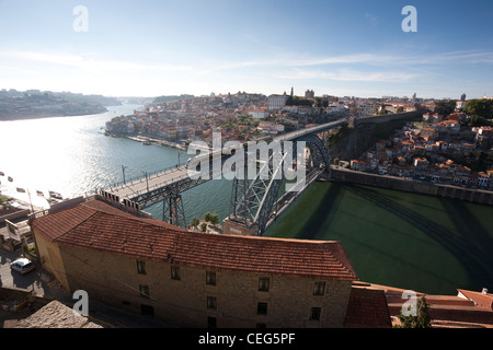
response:
M357 280L340 242L197 233L91 200L36 218L35 234L60 244L216 270Z

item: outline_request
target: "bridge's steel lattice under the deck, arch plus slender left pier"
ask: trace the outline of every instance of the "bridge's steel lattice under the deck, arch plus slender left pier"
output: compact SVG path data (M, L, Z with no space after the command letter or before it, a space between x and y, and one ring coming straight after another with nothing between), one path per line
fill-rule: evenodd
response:
M329 128L318 133L306 133L298 138L290 139L293 141L293 160L297 156L296 141L305 141L306 149L309 150L309 156L306 162L305 183L311 184L322 173L330 175L330 156L328 145L324 143L324 136L328 135ZM322 135L322 139L319 137ZM283 142L282 142L283 143ZM274 154L271 154L268 162L265 162L261 167L261 171L253 179L248 179L248 170L244 170L244 176L241 178L236 176L232 184L231 201L230 201L230 215L232 221L241 222L248 228L256 226L256 234L262 235L266 230L267 223L278 214L279 210L284 210L280 202L287 202L286 198L293 199L298 196L298 192L286 192L279 195L280 186L286 182L284 175L279 172L283 171L284 159L288 153L284 152L283 162L274 162ZM274 167L273 164L277 164ZM248 161L245 160L245 167ZM237 170L238 171L238 170ZM261 174L268 174L262 176ZM213 171L210 178L215 178ZM217 175L217 174L216 174ZM186 175L176 179L173 184L159 186L157 188L148 188L147 191L129 196L128 200L137 203L140 208L146 208L151 205L158 203L162 200L162 220L174 225L186 228L185 211L183 209L183 201L181 192L198 186L207 180L207 178L193 179ZM298 179L299 180L299 179ZM307 187L307 186L306 186ZM305 189L303 187L302 189ZM300 191L302 190L300 189Z

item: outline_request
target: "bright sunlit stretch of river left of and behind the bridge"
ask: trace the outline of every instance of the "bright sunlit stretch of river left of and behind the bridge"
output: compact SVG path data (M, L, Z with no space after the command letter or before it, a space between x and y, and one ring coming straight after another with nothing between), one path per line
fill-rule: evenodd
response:
M37 190L46 197L54 190L72 198L123 182L124 172L129 179L174 166L179 161L183 164L188 156L184 151L103 135L107 120L141 107L111 106L98 115L0 121L0 172L5 174L0 177L0 189L25 202L31 195L35 206L46 208L49 205L36 195ZM7 176L13 182L8 182ZM227 185L214 180L184 194L187 215L203 217L204 208L228 215L231 185ZM26 192L19 192L18 187ZM161 218L161 208L157 205L147 211Z

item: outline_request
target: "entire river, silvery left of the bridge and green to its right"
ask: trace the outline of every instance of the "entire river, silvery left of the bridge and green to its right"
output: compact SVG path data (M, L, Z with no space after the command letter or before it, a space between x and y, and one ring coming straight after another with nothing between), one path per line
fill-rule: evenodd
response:
M187 154L103 135L114 116L0 121L0 189L38 207L48 190L76 197L173 166ZM8 182L11 176L13 182ZM186 219L229 213L231 182L210 180L183 194ZM146 208L161 219L162 207ZM363 281L433 294L493 290L493 207L367 186L316 183L267 230L266 236L341 241Z

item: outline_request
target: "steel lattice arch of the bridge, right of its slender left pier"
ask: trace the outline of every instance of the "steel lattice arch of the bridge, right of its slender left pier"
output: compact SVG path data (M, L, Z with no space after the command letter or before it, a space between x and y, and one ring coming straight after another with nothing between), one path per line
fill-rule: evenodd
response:
M322 133L324 135L324 133ZM302 179L306 184L311 184L322 173L330 172L330 156L328 149L322 139L317 135L307 135L294 140L293 143L293 160L296 160L297 144L296 141L305 141L309 150L309 158L306 164L306 174ZM262 235L266 230L267 223L278 214L282 202L286 202L286 198L297 196L297 194L286 192L279 196L279 189L285 182L283 176L279 178L279 172L283 171L284 160L287 158L284 153L283 162L276 163L273 161L274 154L270 155L266 162L256 174L254 179L238 178L233 179L230 215L229 220L240 222L246 228L253 228L256 235ZM273 165L277 166L274 167ZM261 176L263 172L268 173L268 177ZM246 170L245 170L246 174ZM264 173L265 174L265 173ZM329 174L330 175L330 174ZM298 183L300 179L298 179ZM297 188L301 191L305 188Z

